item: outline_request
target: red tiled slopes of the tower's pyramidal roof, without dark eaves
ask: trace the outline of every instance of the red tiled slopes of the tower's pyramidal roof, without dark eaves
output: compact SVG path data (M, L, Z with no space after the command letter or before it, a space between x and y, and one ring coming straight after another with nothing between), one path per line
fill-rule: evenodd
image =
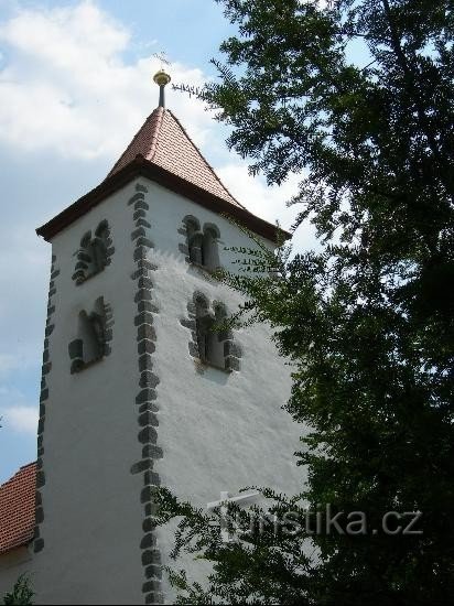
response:
M142 155L175 176L244 208L223 185L179 119L169 109L158 107L147 118L107 177L127 166L137 155Z

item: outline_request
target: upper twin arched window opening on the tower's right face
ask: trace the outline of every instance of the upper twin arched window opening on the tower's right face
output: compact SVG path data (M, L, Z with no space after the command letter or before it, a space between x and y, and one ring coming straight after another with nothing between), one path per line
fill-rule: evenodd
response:
M205 224L201 229L198 219L192 215L187 215L183 224L186 230L188 261L209 271L216 270L219 267L218 228L213 224Z

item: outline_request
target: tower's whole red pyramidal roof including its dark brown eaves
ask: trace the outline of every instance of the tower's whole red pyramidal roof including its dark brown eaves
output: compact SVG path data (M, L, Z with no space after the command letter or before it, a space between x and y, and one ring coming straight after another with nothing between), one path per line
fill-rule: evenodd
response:
M107 177L58 215L39 227L47 241L107 197L143 176L213 213L231 217L255 234L275 241L277 228L242 206L191 140L180 121L160 106L147 118ZM284 237L290 234L282 231Z

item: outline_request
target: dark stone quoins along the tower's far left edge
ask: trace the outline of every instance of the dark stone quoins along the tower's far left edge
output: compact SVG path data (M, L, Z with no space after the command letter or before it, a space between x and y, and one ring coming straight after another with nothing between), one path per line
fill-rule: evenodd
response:
M51 280L48 283L47 320L44 333L43 366L41 374L41 393L40 393L40 420L37 422L37 458L36 458L36 499L35 499L35 530L33 550L39 553L44 548L44 539L41 537L40 524L44 521L43 498L41 488L45 485L44 474L44 424L46 405L48 404L47 375L52 368L50 340L54 332L53 315L55 312L56 279L60 275L60 269L56 269L56 257L52 256Z

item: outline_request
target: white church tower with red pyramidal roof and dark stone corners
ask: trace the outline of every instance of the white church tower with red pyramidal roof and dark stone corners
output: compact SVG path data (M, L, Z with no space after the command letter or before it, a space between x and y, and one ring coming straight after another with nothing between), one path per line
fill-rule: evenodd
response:
M165 109L169 79L155 76L160 105L105 181L37 229L52 271L25 565L36 603L172 603L156 486L201 507L252 484L301 489L269 329L210 329L240 302L213 270L255 246L235 224L270 248L275 228Z

